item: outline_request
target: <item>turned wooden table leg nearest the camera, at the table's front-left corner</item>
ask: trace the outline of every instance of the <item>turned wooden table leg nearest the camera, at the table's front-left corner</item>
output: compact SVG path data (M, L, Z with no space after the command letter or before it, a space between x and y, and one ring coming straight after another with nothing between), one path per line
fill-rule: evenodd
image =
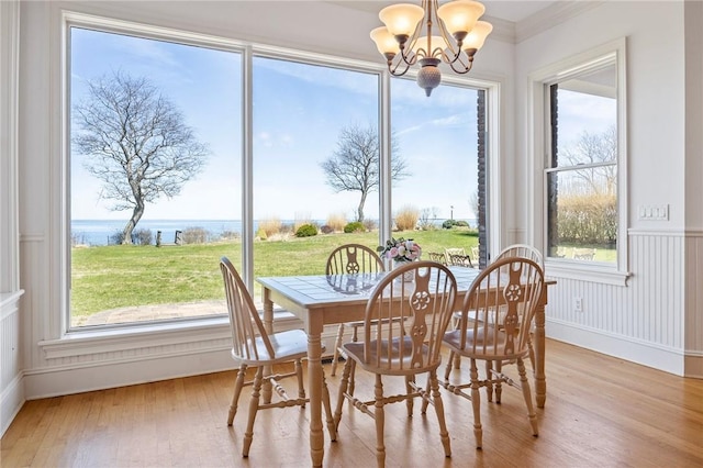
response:
M322 432L322 325L308 332L308 391L310 392L310 457L321 467L324 457Z

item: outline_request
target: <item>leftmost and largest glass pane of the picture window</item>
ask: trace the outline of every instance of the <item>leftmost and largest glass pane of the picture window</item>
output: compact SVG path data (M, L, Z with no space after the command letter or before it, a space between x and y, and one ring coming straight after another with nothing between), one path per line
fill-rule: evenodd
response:
M241 62L70 29L70 326L226 313L219 259L241 265Z

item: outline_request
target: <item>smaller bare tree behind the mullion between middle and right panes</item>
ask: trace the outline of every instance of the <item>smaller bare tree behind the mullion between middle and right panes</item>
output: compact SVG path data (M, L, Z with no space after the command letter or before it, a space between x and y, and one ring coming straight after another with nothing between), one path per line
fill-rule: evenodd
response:
M327 185L337 193L361 193L356 221L364 221L366 198L379 188L380 153L376 129L350 125L342 129L334 155L321 164ZM391 137L391 180L402 180L408 176L405 160L398 155L397 138Z

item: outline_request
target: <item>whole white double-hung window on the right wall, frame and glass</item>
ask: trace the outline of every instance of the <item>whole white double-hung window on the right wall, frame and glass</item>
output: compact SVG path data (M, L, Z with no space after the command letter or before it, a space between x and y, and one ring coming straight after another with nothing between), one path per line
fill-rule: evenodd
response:
M532 76L534 151L544 155L537 230L553 274L626 278L624 52L617 41Z

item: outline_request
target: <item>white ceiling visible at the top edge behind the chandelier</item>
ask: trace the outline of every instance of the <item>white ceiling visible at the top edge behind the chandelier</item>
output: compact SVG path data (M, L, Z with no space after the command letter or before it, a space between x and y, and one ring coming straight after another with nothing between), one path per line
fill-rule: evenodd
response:
M383 7L394 3L417 3L413 0L327 0L328 3L336 3L356 10L378 13ZM542 10L557 3L558 1L548 0L482 0L486 5L486 16L511 21L518 23Z

